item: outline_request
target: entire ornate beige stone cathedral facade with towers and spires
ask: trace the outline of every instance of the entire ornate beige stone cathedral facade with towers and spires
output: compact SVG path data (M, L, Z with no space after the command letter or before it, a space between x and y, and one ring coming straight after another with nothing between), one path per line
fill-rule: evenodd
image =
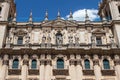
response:
M120 0L102 0L101 21L16 21L0 0L0 80L120 80Z

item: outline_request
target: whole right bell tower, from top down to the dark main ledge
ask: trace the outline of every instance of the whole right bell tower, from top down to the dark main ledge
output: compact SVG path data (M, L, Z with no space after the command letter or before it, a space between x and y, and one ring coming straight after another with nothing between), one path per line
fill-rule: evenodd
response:
M103 22L110 22L115 41L120 48L120 0L102 0L99 12Z

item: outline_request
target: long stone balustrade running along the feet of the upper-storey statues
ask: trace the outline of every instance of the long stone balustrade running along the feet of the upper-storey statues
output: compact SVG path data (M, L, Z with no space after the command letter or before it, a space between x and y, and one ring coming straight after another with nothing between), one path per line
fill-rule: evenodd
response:
M10 44L11 48L25 48L26 45L25 44ZM55 44L47 44L45 43L43 44L29 44L27 47L30 48L58 48L58 46ZM79 44L76 46L76 44L73 44L72 46L70 46L69 44L62 44L61 45L62 48L93 48L91 44ZM101 44L101 45L96 45L94 48L111 48L110 44Z

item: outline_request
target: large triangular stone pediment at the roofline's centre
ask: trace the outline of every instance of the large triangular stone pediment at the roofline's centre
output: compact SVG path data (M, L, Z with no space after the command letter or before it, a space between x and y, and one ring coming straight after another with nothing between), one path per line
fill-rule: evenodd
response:
M57 20L53 20L53 21L48 21L48 22L44 22L41 26L45 26L45 27L68 27L68 26L78 26L77 23L72 22L72 21L66 21L66 20L62 20L62 19L57 19Z

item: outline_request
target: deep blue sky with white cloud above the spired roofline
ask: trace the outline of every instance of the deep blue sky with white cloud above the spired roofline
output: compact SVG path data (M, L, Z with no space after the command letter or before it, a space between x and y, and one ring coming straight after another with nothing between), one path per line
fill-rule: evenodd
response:
M85 10L91 21L99 20L98 3L101 0L15 0L17 21L28 21L30 12L33 14L33 21L43 21L46 10L49 20L55 20L60 11L62 19L68 19L70 11L73 13L73 19L84 21Z

